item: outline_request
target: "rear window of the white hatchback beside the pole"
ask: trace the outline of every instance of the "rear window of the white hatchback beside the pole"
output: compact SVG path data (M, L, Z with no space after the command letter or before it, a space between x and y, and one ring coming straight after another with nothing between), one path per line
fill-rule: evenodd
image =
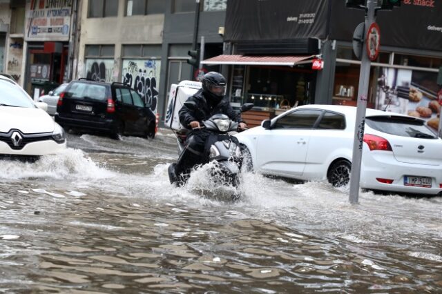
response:
M437 138L436 133L434 133L429 127L425 126L425 121L414 119L412 117L367 117L365 124L375 130L396 136L427 139Z

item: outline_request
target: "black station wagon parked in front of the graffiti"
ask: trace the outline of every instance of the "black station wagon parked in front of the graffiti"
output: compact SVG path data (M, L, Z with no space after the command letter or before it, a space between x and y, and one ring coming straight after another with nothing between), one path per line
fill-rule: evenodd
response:
M90 79L71 81L59 96L55 121L64 128L155 137L155 115L132 88Z

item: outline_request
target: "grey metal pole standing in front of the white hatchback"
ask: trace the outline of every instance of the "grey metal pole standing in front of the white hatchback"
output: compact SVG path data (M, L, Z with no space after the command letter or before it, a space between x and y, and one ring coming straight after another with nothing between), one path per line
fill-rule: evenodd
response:
M350 195L349 201L351 204L358 203L359 197L359 181L361 179L361 161L362 148L365 126L365 110L367 110L367 95L370 75L371 61L368 58L367 50L365 50L365 43L367 31L375 20L375 8L377 0L367 0L367 15L365 16L365 34L363 37L363 52L361 60L361 72L359 74L359 88L358 88L358 104L356 109L356 121L354 124L354 141L353 141L353 156L352 156L352 173L350 176Z

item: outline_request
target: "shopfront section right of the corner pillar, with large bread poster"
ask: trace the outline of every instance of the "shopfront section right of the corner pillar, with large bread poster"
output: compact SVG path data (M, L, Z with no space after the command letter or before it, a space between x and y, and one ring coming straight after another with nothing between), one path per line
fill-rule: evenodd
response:
M442 3L423 4L403 1L392 12L378 12L382 51L372 62L367 107L421 117L437 130L437 93L442 86L438 81L442 68ZM343 15L347 10L336 6L332 15ZM356 27L362 19L363 12L356 10L347 17L348 26L332 23L330 35L348 40L353 33L349 27ZM335 61L332 104L356 106L361 62L351 43L338 42Z

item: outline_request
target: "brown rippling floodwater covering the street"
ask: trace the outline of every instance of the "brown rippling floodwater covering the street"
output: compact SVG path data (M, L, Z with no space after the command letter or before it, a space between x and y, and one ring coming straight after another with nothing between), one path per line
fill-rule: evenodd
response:
M0 293L442 292L441 197L246 173L227 202L204 168L169 184L166 130L68 146L0 160Z

